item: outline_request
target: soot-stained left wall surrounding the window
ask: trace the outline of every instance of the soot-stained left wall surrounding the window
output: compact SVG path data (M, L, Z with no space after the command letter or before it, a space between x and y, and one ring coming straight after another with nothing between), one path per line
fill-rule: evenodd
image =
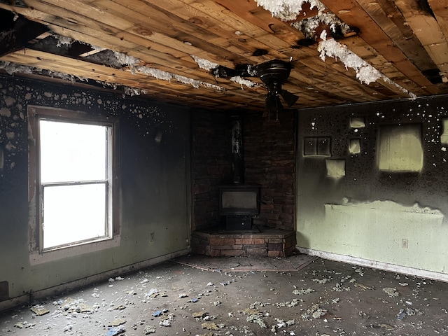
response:
M86 279L83 283L97 281L113 274L114 269L132 269L188 251L191 225L188 109L6 75L0 77L0 92L0 301L4 303L78 279ZM118 118L118 246L31 265L29 105Z

